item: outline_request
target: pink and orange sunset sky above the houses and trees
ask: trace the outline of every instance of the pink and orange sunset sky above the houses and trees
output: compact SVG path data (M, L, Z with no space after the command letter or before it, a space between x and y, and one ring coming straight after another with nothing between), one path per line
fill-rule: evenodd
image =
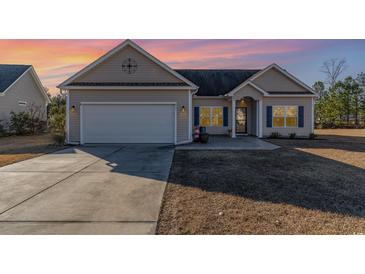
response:
M134 40L172 68L260 69L277 63L308 85L321 64L346 58L345 75L365 71L365 40ZM56 85L123 40L0 40L1 64L32 64L52 94Z

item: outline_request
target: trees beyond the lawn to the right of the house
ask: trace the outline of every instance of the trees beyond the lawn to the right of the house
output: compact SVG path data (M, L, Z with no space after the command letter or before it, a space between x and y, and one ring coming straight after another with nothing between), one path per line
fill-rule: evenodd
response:
M346 68L345 59L331 59L322 65L326 79L313 85L318 94L315 117L319 128L365 127L365 73L338 80Z

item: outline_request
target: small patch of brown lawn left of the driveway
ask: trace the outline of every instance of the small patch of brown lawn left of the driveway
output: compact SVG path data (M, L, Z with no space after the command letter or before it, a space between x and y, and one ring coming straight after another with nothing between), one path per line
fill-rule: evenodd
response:
M62 147L54 144L50 134L0 138L0 167L34 158Z

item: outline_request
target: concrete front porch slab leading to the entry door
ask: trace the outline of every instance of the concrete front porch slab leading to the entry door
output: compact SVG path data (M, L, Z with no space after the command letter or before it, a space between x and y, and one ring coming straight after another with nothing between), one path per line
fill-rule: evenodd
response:
M176 150L274 150L279 148L274 144L251 136L211 135L207 144L190 143L176 146Z

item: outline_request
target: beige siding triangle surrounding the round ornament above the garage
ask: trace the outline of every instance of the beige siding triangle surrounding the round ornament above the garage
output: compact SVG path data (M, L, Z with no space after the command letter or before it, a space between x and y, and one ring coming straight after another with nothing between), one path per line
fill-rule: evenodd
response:
M137 62L138 67L135 73L128 74L122 71L122 63L126 58L133 58ZM132 47L126 46L73 82L181 83L182 80Z

